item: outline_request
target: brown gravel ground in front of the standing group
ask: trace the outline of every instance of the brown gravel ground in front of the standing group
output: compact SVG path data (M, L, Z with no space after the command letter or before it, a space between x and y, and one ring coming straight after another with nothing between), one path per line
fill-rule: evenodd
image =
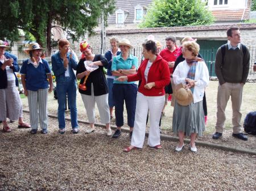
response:
M28 114L24 113L28 120ZM174 152L176 143L162 141L162 150L146 146L130 153L129 136L106 137L80 124L80 133L57 133L49 118L49 133L31 135L28 129L0 133L0 190L255 190L256 157L188 146ZM17 126L14 122L11 126ZM67 126L71 124L68 121Z

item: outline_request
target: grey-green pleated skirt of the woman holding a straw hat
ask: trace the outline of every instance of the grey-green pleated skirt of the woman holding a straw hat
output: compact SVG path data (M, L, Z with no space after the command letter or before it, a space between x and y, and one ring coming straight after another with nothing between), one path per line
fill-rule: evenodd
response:
M174 133L182 131L186 136L190 136L191 133L202 136L205 130L203 101L187 106L180 105L175 101L172 130Z

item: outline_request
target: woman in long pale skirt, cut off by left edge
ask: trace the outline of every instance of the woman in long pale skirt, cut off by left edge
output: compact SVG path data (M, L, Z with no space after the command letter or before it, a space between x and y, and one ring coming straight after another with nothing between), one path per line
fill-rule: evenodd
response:
M0 120L3 122L3 131L10 132L6 118L12 121L19 120L18 128L30 128L30 126L23 122L22 101L16 88L18 78L15 72L19 71L17 57L6 52L6 48L10 46L0 40Z

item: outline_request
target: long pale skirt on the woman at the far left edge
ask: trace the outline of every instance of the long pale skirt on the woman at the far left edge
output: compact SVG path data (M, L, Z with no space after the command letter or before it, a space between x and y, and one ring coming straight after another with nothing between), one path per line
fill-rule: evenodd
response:
M22 117L22 101L15 80L8 81L7 88L0 89L0 121L18 120Z

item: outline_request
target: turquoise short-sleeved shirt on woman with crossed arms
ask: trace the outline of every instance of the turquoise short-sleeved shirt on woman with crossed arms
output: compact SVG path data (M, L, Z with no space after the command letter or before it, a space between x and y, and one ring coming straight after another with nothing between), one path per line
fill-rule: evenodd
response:
M123 60L122 53L118 56L113 58L112 61L112 71L117 71L118 69L122 70L130 70L131 67L135 66L136 69L138 69L138 58L129 54L128 58L126 60ZM115 77L117 79L118 77ZM119 82L118 80L114 80L114 83L121 83L121 84L132 84L135 82Z

